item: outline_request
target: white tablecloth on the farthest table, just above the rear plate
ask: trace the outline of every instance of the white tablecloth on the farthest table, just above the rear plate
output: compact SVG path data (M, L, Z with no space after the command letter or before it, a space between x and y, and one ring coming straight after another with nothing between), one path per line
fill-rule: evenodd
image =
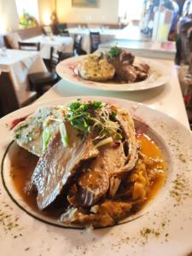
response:
M120 29L110 29L110 28L79 28L73 27L69 28L68 32L71 37L74 38L75 34L79 34L83 37L82 40L82 48L87 52L90 53L90 31L91 32L100 32L101 43L106 43L110 39L116 38L120 36L122 30Z

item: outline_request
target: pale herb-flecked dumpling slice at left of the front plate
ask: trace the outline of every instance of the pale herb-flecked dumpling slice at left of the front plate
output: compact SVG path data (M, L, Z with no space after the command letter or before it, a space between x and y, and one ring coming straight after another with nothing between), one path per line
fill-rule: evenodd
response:
M62 120L64 113L60 108L38 108L24 121L13 129L13 137L21 148L25 148L32 154L41 156L44 153L44 141L49 142L49 137L60 124L55 120Z

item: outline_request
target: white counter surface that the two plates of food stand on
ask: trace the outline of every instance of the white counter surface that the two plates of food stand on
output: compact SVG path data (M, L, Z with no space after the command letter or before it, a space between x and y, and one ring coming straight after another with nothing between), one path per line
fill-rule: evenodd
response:
M53 100L61 96L112 96L119 97L134 102L142 102L150 108L160 110L172 118L177 119L180 123L189 129L189 121L183 103L183 96L180 89L180 84L177 79L177 71L173 61L156 60L161 64L166 65L170 70L170 81L158 88L152 90L141 90L136 92L117 92L94 90L85 87L80 87L64 81L63 79L55 84L44 96L38 99L38 102Z

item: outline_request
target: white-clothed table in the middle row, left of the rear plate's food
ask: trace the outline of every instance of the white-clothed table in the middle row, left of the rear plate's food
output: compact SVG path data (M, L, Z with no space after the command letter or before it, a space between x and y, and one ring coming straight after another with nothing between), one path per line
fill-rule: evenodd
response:
M40 43L40 55L43 59L50 58L51 46L55 49L61 50L66 53L73 53L73 38L61 36L44 36L40 35L34 38L23 40L26 43Z

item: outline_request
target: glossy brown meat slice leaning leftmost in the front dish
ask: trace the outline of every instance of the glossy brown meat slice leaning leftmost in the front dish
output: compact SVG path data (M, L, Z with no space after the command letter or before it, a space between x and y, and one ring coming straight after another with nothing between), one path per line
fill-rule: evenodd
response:
M90 136L82 140L77 136L78 131L67 122L66 129L69 146L63 146L61 133L56 131L32 175L31 183L38 189L40 210L49 207L61 195L85 160L98 154Z

